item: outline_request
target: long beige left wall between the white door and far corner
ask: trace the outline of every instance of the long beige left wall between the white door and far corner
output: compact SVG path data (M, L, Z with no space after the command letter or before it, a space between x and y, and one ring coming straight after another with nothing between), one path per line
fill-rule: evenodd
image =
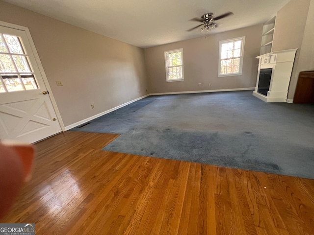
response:
M65 126L147 94L142 48L3 1L0 21L29 28Z

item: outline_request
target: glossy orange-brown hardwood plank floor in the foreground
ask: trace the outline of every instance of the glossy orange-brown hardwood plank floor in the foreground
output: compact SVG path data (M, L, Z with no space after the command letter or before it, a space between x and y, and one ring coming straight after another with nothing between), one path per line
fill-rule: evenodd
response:
M35 144L32 180L1 223L37 235L313 235L314 180L101 151L118 135Z

